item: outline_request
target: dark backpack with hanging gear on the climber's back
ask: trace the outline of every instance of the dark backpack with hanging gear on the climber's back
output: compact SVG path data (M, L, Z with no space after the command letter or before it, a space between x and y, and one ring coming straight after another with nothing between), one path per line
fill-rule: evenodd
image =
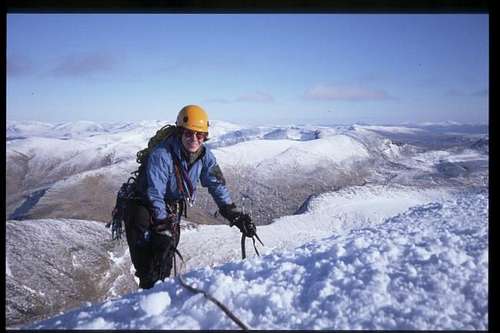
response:
M156 131L156 134L152 136L148 141L148 146L137 152L136 161L139 163L139 168L133 171L131 174L133 176L129 177L127 182L123 183L120 190L116 194L115 207L111 212L111 221L106 224L106 228L111 227L111 239L117 240L122 238L123 234L123 224L125 223L125 213L129 200L135 199L137 196L135 194L137 175L139 174L144 162L147 161L149 153L154 146L159 144L164 139L172 136L176 133L177 127L175 125L167 124Z

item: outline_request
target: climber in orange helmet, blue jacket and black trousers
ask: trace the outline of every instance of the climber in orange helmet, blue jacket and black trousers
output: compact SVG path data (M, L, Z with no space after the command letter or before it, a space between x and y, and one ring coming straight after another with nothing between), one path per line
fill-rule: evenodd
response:
M130 257L143 289L170 276L181 216L186 216L195 200L198 180L208 188L230 226L236 225L246 237L256 233L250 216L231 200L221 168L204 145L209 134L207 113L187 105L175 125L158 143L143 150L134 199L128 201L124 214Z

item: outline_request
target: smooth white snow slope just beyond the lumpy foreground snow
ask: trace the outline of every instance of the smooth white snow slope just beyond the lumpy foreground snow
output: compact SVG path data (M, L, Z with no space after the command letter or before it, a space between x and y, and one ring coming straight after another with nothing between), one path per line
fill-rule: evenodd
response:
M284 216L271 224L258 226L259 237L265 244L262 251L291 249L354 228L376 226L412 206L444 200L451 195L449 191L365 185L325 193L313 199L304 214ZM200 225L183 232L179 249L186 259L187 269L241 258L239 236L239 230L227 225ZM247 248L247 256L254 256L250 241L247 241Z

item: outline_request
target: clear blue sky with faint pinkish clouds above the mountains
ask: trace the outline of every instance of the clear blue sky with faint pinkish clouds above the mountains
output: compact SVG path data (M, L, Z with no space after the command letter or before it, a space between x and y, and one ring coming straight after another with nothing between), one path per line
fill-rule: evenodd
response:
M7 120L488 122L487 14L9 14Z

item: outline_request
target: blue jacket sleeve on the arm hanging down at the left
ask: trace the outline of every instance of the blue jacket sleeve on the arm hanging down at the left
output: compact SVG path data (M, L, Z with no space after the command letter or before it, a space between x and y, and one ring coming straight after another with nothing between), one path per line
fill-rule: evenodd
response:
M146 194L153 207L153 218L155 219L167 217L165 194L171 166L172 157L165 147L155 148L148 157Z

